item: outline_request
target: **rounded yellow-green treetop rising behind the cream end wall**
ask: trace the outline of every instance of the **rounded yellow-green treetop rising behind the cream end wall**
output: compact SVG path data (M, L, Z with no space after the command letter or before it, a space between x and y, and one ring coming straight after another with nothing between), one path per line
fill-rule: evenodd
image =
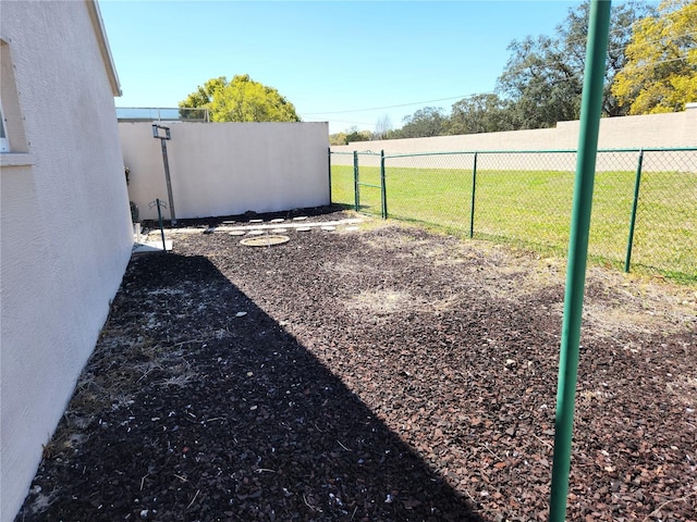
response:
M211 78L179 103L180 108L204 107L212 122L299 122L295 108L273 87L254 82L249 75Z

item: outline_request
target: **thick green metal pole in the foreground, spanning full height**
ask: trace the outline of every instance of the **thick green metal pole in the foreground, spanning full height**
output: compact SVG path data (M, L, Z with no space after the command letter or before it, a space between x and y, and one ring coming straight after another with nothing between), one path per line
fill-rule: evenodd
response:
M580 341L586 258L588 256L588 231L590 228L609 27L610 1L592 0L588 17L586 71L584 73L584 90L580 104L578 158L576 160L574 206L568 241L568 268L564 295L564 319L559 357L550 522L563 522L566 517L574 402L576 400L578 372L578 344Z

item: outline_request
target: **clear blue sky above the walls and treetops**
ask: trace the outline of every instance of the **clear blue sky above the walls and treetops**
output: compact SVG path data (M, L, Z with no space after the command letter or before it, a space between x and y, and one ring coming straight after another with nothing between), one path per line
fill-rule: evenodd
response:
M509 44L553 35L575 1L100 0L123 96L176 107L207 79L274 87L330 133L394 128L424 107L490 92ZM438 100L438 101L435 101ZM395 107L402 105L402 107Z

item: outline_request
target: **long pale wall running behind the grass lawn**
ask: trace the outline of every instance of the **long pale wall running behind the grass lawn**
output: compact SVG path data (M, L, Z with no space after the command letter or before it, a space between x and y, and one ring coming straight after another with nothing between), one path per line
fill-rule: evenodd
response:
M409 154L416 152L440 151L487 151L487 150L576 150L578 147L579 122L559 122L555 128L540 128L533 130L512 130L505 133L467 134L460 136L437 136L432 138L384 139L375 141L356 141L344 146L332 146L335 152L353 150L384 150L386 156ZM641 116L604 117L600 120L598 136L600 149L634 149L634 148L674 148L697 147L697 104L688 104L684 112L668 114L649 114ZM651 154L656 157L656 153ZM689 160L689 158L688 158ZM362 164L370 160L362 158ZM427 164L429 160L419 160ZM539 165L539 158L533 154L521 154L516 164L521 169ZM661 169L665 161L657 160L656 164L647 159L645 167ZM344 154L332 156L332 164L348 165L353 158ZM416 160L389 160L389 166L414 166ZM695 166L676 165L671 160L672 167L694 172ZM564 154L546 156L543 163L547 169L554 164L566 169L568 158ZM573 163L573 162L572 162ZM663 166L661 166L663 165ZM613 169L608 165L608 169Z

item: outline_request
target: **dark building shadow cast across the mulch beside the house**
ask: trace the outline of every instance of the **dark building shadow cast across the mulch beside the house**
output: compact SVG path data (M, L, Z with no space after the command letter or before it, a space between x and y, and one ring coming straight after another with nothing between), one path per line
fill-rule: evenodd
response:
M19 521L479 521L204 257L132 261Z

